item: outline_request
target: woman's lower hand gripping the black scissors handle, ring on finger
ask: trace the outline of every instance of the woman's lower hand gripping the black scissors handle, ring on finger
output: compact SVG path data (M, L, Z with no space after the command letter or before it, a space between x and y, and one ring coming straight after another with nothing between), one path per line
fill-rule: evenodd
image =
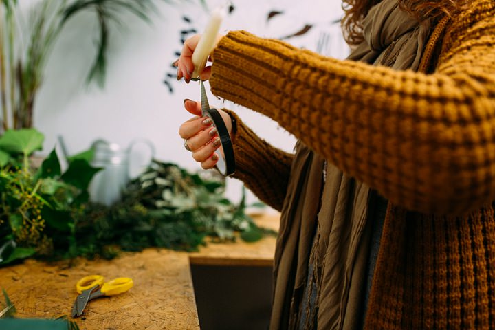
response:
M204 169L212 168L217 164L218 155L214 153L220 147L220 137L217 129L212 126L208 117L201 116L201 102L184 100L187 111L196 115L179 127L179 135L184 139L185 146L192 152L192 158L201 163ZM232 132L232 118L225 111L217 109L227 126L229 134Z

